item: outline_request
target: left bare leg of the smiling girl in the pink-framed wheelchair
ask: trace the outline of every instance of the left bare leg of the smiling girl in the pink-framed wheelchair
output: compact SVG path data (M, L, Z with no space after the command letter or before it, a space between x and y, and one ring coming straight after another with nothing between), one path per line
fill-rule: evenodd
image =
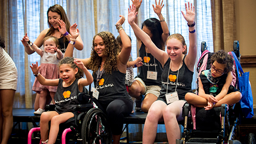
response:
M53 116L59 115L56 111L47 111L42 113L40 117L41 140L46 141L49 135L49 122Z

